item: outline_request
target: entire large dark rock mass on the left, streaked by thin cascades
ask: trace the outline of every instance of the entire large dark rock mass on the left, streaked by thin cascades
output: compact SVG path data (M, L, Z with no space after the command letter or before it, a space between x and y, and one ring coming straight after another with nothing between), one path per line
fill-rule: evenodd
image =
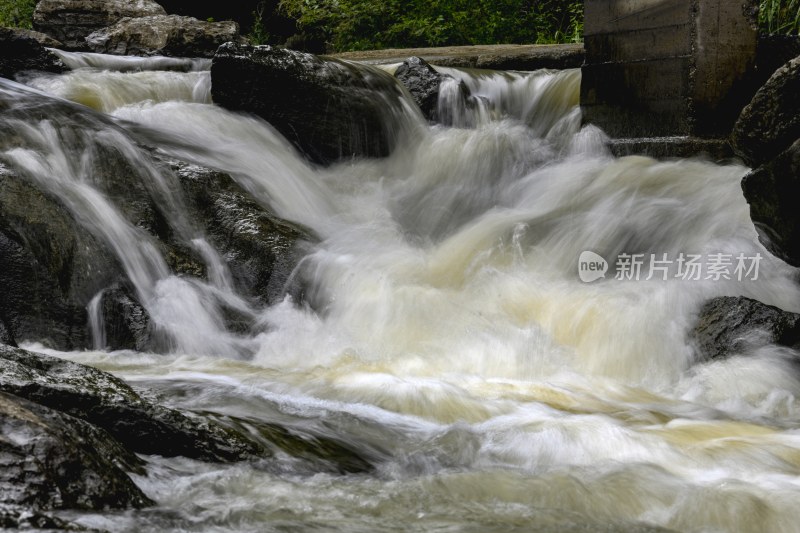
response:
M7 150L40 150L23 130L52 127L64 143L53 147L56 152L63 150L69 158L84 162L82 179L108 198L142 239L154 244L172 272L200 279L207 276L206 265L191 242L205 234L226 259L241 296L259 304L280 297L299 259L295 245L311 239L306 231L259 205L227 174L164 163L151 151L133 145L128 133L107 117L0 84L0 158L6 159L0 162L0 336L4 342L35 341L61 350L91 347L87 306L102 293L105 346L152 348L155 329L114 246L97 228L83 224L65 198L37 184L3 156ZM131 157L132 153L141 159ZM165 197L153 173L160 174L175 203ZM176 212L183 215L181 221L176 222ZM244 231L244 220L249 230L257 231ZM237 331L247 326L235 324Z

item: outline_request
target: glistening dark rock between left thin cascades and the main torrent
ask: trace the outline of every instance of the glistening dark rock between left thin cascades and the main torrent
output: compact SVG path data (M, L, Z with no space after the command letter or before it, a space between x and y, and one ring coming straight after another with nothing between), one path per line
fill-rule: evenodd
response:
M169 161L177 174L193 218L222 254L239 294L274 303L300 258L307 230L275 216L227 174Z

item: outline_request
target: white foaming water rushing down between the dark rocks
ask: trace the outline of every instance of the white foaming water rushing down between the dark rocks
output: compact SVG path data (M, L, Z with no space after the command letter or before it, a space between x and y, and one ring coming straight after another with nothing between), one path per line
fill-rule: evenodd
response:
M185 219L174 178L117 126L65 145L58 124L17 119L28 147L3 160L116 249L166 339L160 354L57 355L173 406L333 438L375 467L150 457L136 481L156 508L67 517L112 531L797 530L793 354L702 362L687 340L713 296L800 312L792 269L756 239L746 168L612 157L602 132L580 128L579 71L448 70L473 95L443 88L440 114L459 127L409 113L391 157L322 169L263 121L211 104L207 64L65 60L75 70L28 83L229 172L320 242L296 272L312 305L253 308ZM136 161L214 275L170 274L93 186L97 143ZM584 251L611 263L605 279L581 281ZM621 254L720 253L760 254L757 279L686 280L677 261L667 279L646 280L649 261L638 280L614 279ZM258 327L226 331L220 302Z

